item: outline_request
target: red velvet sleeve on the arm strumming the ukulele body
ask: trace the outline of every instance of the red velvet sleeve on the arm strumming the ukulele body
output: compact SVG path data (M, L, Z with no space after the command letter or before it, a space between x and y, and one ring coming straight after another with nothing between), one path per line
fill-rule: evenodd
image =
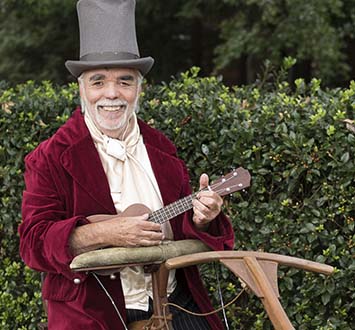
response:
M19 226L21 257L35 270L62 274L68 279L80 277L69 268L73 259L69 237L76 226L87 220L84 216L68 217L54 167L40 149L29 154L25 164L23 221Z

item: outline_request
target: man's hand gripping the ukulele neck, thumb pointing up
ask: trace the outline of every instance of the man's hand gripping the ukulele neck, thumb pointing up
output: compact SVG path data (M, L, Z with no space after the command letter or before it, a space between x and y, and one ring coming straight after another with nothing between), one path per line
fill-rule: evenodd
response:
M210 222L221 212L223 199L212 190L203 190L208 188L209 178L207 174L200 176L200 192L196 199L192 201L193 205L193 222L199 230L208 230Z

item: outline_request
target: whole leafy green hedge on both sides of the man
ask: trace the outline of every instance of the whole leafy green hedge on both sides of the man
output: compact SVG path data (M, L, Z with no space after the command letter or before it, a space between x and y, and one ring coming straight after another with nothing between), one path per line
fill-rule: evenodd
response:
M140 116L177 145L193 185L243 166L252 185L225 199L235 249L325 262L333 276L281 267L281 302L296 329L351 329L355 324L355 83L324 90L320 81L282 76L228 88L192 68L169 84L146 86ZM0 327L35 329L42 317L38 274L18 256L23 158L78 104L75 84L0 84ZM216 282L205 272L215 298ZM226 301L239 291L222 269ZM218 302L216 302L218 304ZM228 308L232 329L271 329L258 299L242 295Z

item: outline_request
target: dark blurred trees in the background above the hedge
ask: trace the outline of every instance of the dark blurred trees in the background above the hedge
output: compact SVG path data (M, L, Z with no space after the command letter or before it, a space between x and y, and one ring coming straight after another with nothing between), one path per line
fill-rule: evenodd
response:
M1 0L0 80L72 81L79 55L75 0ZM228 85L255 81L264 60L298 59L290 81L313 77L347 86L355 75L355 0L137 0L149 79L169 81L192 65Z

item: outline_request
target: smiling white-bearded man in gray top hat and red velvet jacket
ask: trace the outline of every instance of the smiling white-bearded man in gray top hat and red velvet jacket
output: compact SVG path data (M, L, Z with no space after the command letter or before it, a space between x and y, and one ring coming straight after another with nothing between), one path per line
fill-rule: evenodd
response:
M200 239L231 249L234 235L220 212L222 199L201 191L193 210L159 225L148 215L120 216L141 203L154 211L191 193L185 164L173 144L136 117L142 77L153 59L140 58L133 0L80 0L80 60L67 61L78 78L81 108L26 157L20 253L46 272L43 298L52 329L124 329L105 292L69 264L80 253L108 246L152 246L164 239ZM200 188L208 186L200 178ZM110 219L98 221L102 214ZM112 217L112 215L116 215ZM116 278L100 276L125 322L149 318L151 283L139 267ZM212 309L195 267L171 272L169 299L186 308ZM174 312L175 329L221 329L217 316Z

